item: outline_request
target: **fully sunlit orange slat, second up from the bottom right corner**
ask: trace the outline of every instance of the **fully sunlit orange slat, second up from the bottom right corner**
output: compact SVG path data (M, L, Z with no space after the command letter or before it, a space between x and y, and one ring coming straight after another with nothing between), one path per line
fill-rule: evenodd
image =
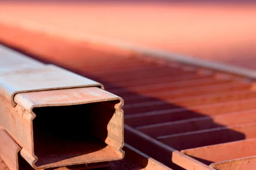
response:
M207 162L220 162L256 155L256 138L181 150L188 156Z

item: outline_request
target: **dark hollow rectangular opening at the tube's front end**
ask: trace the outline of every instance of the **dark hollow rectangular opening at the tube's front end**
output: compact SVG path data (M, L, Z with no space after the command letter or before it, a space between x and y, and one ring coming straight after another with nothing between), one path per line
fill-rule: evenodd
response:
M121 159L120 153L105 143L112 133L107 126L119 102L34 108L35 165L55 167Z

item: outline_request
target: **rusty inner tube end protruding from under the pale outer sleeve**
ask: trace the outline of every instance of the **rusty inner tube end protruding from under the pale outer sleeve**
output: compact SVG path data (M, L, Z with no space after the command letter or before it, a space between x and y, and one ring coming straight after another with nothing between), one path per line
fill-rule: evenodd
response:
M120 97L97 87L88 87L20 93L15 95L14 101L17 105L12 107L9 102L1 100L0 125L22 147L21 156L33 168L45 169L123 158L123 111L121 109L123 101ZM101 108L105 110L101 110ZM82 111L82 109L85 110ZM65 110L66 113L64 113ZM62 113L58 113L58 111L62 111ZM88 117L80 115L79 117L79 113L76 113L79 111L82 114L90 112L90 115ZM90 121L84 120L84 123L90 125L76 125L76 122L72 122L83 123L79 118L90 119ZM58 121L63 123L58 123ZM59 128L55 124L64 127ZM48 129L47 126L50 125L52 125L52 129ZM70 131L71 127L65 126L79 129ZM56 129L59 131L55 132ZM66 130L67 134L63 133L63 130ZM58 132L62 135L59 136L60 139L55 137L59 135ZM92 137L81 137L77 141L69 141L70 139L65 137L65 135L69 136L69 133L75 134L71 135L72 138L70 137L70 139L75 138L74 140L80 135L89 136L87 133L91 133ZM65 143L62 139L67 142ZM53 141L49 142L51 140ZM80 140L82 142L79 142ZM59 151L59 148L56 149L58 143L55 144L55 142L62 143L64 145L62 147L66 148L67 153ZM79 146L79 149L75 145ZM92 148L94 150L90 151ZM52 150L57 153L52 153ZM80 151L79 155L76 153L78 151ZM48 153L50 156L47 156Z

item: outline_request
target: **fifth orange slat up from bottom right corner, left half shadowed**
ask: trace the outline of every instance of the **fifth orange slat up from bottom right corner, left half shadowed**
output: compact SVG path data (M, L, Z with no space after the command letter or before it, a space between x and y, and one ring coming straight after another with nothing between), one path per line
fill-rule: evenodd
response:
M166 109L146 113L137 113L125 115L125 122L132 127L137 127L143 125L172 122L182 120L184 118L192 119L203 116L246 111L255 109L255 102L256 99L247 99L241 101L216 103L211 105L201 105L191 108ZM140 121L141 119L143 119L143 122Z

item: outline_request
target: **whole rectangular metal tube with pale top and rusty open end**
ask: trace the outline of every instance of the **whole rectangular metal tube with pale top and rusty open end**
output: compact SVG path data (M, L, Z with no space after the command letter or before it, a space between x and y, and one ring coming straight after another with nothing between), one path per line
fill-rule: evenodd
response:
M33 168L124 157L122 98L8 48L0 47L0 55L0 127Z

